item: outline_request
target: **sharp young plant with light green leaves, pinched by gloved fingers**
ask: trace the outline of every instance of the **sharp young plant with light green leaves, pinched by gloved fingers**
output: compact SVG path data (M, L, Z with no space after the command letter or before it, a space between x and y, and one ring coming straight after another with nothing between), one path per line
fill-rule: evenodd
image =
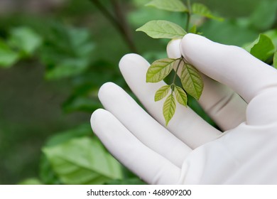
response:
M183 38L191 26L190 19L192 14L222 20L222 18L213 16L212 12L203 4L195 3L190 5L190 0L187 1L186 5L180 0L153 0L146 4L146 6L153 6L165 11L182 12L187 15L185 30L173 22L164 20L149 21L136 30L143 31L151 38ZM196 33L196 26L191 27L189 32ZM172 83L158 89L154 97L155 101L166 97L163 104L163 117L165 118L166 125L168 125L168 122L170 122L170 119L175 114L176 100L187 107L187 94L195 99L200 99L204 87L200 72L188 63L183 56L177 59L163 58L154 61L146 72L146 82L160 82L164 80L173 71L173 68L175 75ZM176 85L179 70L181 71L180 82L182 87Z

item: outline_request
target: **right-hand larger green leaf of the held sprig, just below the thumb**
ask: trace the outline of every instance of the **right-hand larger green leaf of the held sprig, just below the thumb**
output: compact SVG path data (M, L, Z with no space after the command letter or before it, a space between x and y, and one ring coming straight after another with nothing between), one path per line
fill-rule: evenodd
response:
M190 64L185 64L181 72L181 82L185 92L199 99L203 90L203 80L200 72Z

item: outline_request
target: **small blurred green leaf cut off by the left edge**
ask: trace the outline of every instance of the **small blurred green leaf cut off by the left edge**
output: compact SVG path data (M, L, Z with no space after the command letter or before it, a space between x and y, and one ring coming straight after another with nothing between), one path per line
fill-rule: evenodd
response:
M19 54L0 40L0 68L9 68L19 59Z

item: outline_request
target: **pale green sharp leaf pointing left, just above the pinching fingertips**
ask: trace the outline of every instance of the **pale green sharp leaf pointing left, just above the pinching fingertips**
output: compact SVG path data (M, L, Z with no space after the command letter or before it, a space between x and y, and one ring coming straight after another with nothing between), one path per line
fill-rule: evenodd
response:
M151 38L183 38L186 34L176 23L164 20L149 21L136 31L143 31Z

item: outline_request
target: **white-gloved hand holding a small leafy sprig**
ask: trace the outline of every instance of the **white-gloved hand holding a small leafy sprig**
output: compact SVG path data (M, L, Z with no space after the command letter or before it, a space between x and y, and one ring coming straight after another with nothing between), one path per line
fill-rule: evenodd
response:
M179 104L165 127L164 99L154 102L165 83L146 83L149 63L129 54L119 67L147 112L121 87L104 84L105 109L92 114L91 124L107 149L151 184L277 183L277 70L246 50L194 34L167 50L202 72L199 102L224 133Z

